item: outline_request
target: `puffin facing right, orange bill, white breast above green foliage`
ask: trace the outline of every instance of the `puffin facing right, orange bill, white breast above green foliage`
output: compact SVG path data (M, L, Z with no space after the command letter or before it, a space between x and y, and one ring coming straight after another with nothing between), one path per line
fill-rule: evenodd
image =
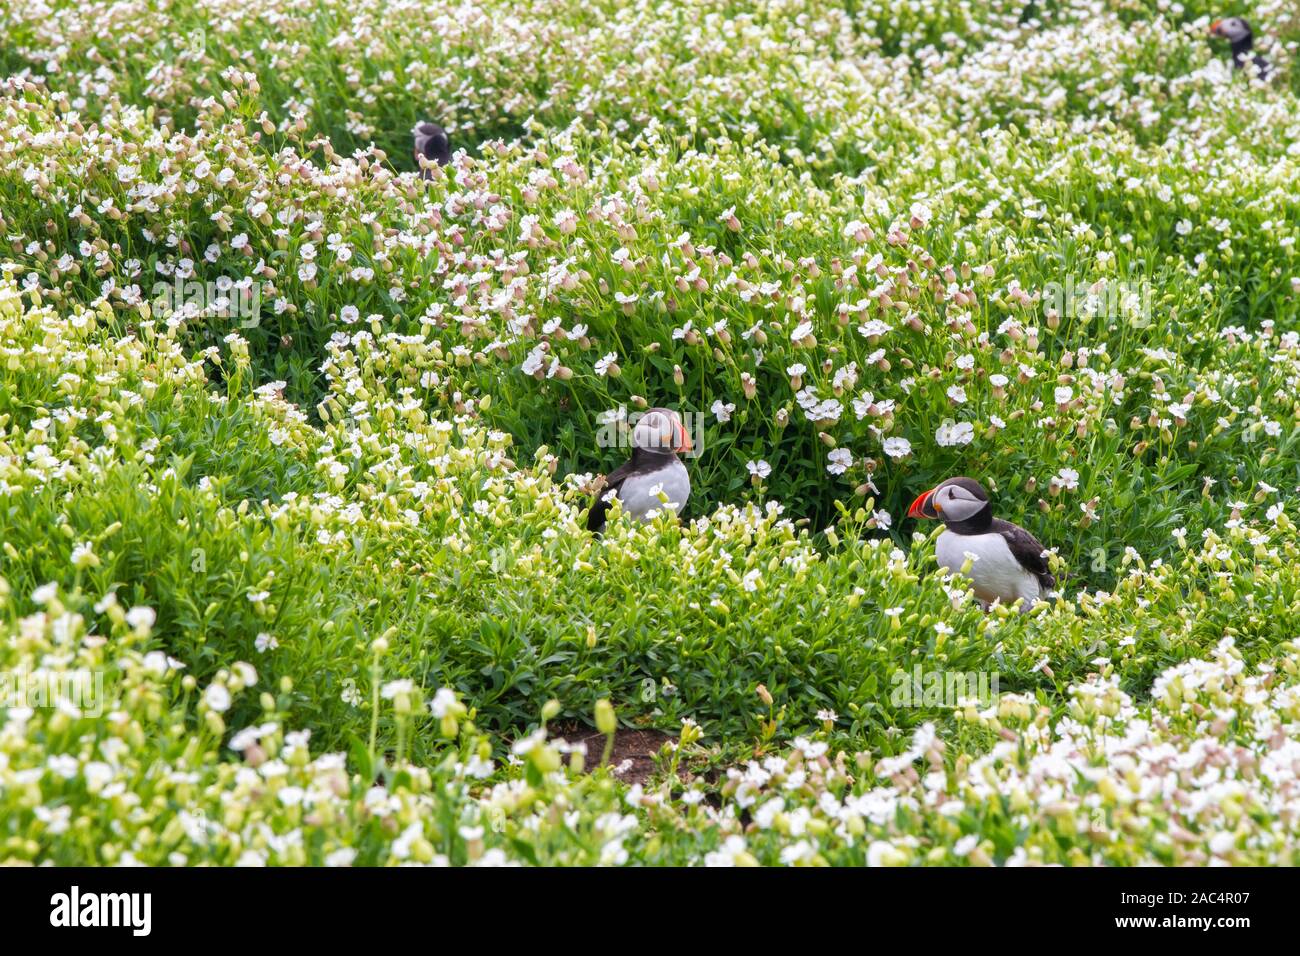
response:
M588 531L594 535L604 531L614 498L621 502L624 511L642 522L666 507L681 514L690 497L690 476L677 455L692 447L690 436L677 412L647 408L632 429L632 458L608 473L603 489L592 502L586 516ZM659 499L659 492L668 498L667 503Z

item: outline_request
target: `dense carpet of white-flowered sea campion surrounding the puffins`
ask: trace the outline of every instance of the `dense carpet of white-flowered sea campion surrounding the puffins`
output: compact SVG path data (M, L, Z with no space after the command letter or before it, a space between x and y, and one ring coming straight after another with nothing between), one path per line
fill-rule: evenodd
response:
M0 9L0 856L1295 862L1248 7L1274 82L1201 0ZM660 405L684 520L593 538ZM937 570L954 473L1049 602Z

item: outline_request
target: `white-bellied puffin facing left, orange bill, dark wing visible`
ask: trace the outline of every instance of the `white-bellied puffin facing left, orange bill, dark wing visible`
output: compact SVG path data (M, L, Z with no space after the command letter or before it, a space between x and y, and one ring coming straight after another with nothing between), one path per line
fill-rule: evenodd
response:
M959 572L967 555L975 555L967 576L985 609L1019 600L1023 614L1056 587L1043 544L1018 524L993 518L988 492L974 479L950 477L923 492L907 516L946 525L935 542L935 557L946 571Z

